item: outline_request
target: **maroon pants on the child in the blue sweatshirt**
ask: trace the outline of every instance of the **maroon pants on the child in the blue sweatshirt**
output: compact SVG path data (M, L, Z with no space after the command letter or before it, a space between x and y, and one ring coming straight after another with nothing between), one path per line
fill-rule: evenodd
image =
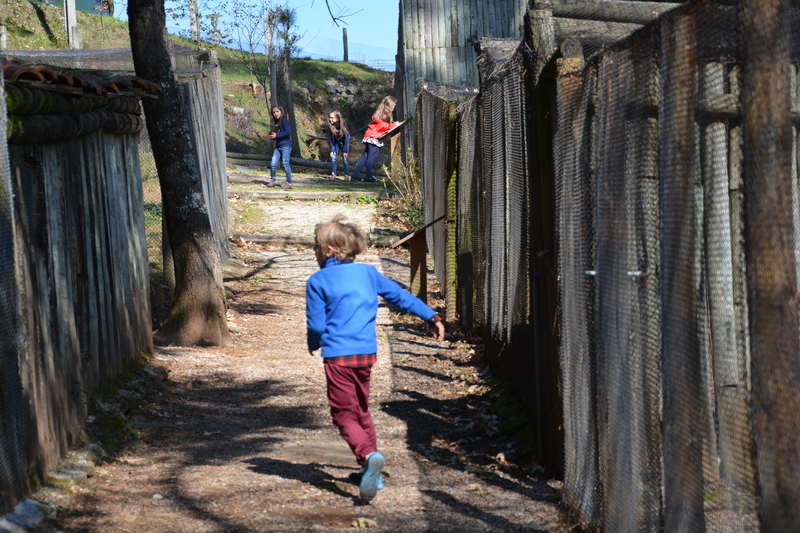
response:
M375 426L369 414L369 376L372 367L347 368L325 364L328 378L328 403L333 424L363 465L367 455L378 451Z

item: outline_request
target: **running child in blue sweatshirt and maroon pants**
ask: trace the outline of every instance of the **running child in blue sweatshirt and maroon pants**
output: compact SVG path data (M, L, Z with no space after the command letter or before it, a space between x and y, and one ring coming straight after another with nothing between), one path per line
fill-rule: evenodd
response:
M361 465L359 495L371 500L383 488L384 457L369 412L372 365L377 361L378 296L426 321L437 341L444 324L422 300L372 265L354 263L366 249L364 232L339 217L317 224L314 253L320 269L306 284L308 352L322 348L333 423Z

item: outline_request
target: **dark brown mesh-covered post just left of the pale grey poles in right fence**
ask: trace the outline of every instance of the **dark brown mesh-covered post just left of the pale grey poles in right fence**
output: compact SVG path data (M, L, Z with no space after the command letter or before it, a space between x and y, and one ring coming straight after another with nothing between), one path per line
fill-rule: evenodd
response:
M661 309L664 531L703 531L703 434L694 231L694 14L665 17L661 33Z

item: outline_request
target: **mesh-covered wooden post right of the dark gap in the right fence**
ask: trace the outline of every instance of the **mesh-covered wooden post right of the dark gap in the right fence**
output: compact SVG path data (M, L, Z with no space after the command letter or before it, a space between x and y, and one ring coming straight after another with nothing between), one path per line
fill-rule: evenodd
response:
M584 78L580 74L582 68L583 61L578 58L566 58L559 62L559 127L553 147L556 158L564 162L558 167L554 180L558 189L554 194L559 202L557 210L564 213L564 216L558 218L558 233L561 238L558 254L561 283L558 288L563 302L558 323L561 326L561 387L564 394L563 427L566 445L564 492L567 502L579 513L581 521L599 529L602 514L597 464L598 442L596 438L587 438L587 435L594 435L597 428L597 376L594 366L596 352L592 346L590 331L591 306L575 297L578 294L592 294L594 286L591 277L586 274L587 268L593 264L593 246L590 242L592 236L586 232L589 227L586 220L592 213L592 207L589 205L590 195L580 194L580 191L588 188L589 173L580 172L580 168L591 157L588 150L583 148L589 144L585 141L591 131L586 102L587 93L592 87L591 84L584 86ZM592 69L587 74L587 79L591 80L595 75L596 71ZM573 198L576 200L567 200ZM534 248L537 249L540 248ZM537 260L542 261L538 257ZM537 272L542 276L545 269L538 266ZM540 283L537 282L538 279L534 278L534 296L538 295ZM534 309L537 303L533 303ZM540 453L542 449L543 446L539 446Z

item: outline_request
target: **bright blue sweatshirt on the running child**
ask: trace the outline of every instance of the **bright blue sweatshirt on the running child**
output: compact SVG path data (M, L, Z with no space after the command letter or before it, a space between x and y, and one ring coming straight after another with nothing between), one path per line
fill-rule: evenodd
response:
M378 296L426 322L436 314L374 266L329 257L306 284L308 349L322 348L323 357L376 353Z

